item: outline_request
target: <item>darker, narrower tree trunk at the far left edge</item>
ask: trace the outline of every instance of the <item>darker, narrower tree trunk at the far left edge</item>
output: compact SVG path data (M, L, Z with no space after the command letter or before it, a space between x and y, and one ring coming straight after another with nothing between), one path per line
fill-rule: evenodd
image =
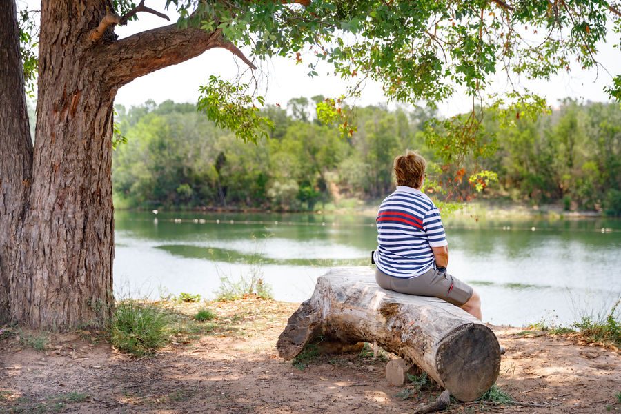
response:
M14 0L0 1L0 324L8 322L10 275L26 206L32 141Z

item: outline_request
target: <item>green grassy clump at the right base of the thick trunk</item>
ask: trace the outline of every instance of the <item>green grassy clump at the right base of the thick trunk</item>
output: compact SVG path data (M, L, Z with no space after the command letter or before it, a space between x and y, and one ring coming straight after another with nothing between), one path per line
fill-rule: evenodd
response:
M118 302L110 324L110 342L120 351L150 355L166 344L168 319L159 306L133 300Z

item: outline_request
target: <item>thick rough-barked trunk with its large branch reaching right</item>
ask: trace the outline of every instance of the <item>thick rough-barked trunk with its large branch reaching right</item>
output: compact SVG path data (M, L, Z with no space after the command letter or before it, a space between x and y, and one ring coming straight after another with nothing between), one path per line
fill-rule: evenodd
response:
M106 6L112 10L110 0L41 6L37 138L27 208L20 210L15 196L9 199L11 208L23 210L16 226L19 248L12 250L19 253L9 259L10 271L3 271L3 277L10 275L10 316L34 327L101 328L114 308L111 160L117 89L219 47L222 39L219 32L166 26L117 41L108 26L93 41L90 34ZM4 179L8 170L2 168ZM30 165L24 169L30 172ZM13 181L10 188L17 188ZM0 240L5 239L11 238ZM3 291L0 298L7 302Z

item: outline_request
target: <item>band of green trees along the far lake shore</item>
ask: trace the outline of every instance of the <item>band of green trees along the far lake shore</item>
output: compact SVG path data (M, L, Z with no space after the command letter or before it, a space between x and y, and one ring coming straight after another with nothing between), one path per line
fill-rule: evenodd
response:
M117 106L117 126L127 141L113 157L117 205L312 210L342 197L380 199L392 190L392 161L406 148L430 161L435 182L459 178L455 192L433 197L477 194L459 172L443 169L442 159L429 148L426 128L435 116L432 110L358 108L356 132L342 136L337 126L317 121L315 106L322 101L321 96L301 97L291 99L287 109L267 106L262 115L274 128L269 139L256 144L217 128L190 103ZM483 113L489 153L464 163L464 170L497 173L497 183L486 186L483 197L621 213L617 104L567 99L535 121L520 119L519 112ZM468 165L473 162L478 165Z

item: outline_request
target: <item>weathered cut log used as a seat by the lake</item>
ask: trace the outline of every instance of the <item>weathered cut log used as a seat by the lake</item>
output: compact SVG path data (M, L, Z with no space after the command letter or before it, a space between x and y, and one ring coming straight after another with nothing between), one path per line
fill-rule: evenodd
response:
M415 364L460 401L495 382L500 346L485 324L442 299L380 288L368 267L333 268L288 319L277 349L289 360L318 336L344 344L377 342Z

